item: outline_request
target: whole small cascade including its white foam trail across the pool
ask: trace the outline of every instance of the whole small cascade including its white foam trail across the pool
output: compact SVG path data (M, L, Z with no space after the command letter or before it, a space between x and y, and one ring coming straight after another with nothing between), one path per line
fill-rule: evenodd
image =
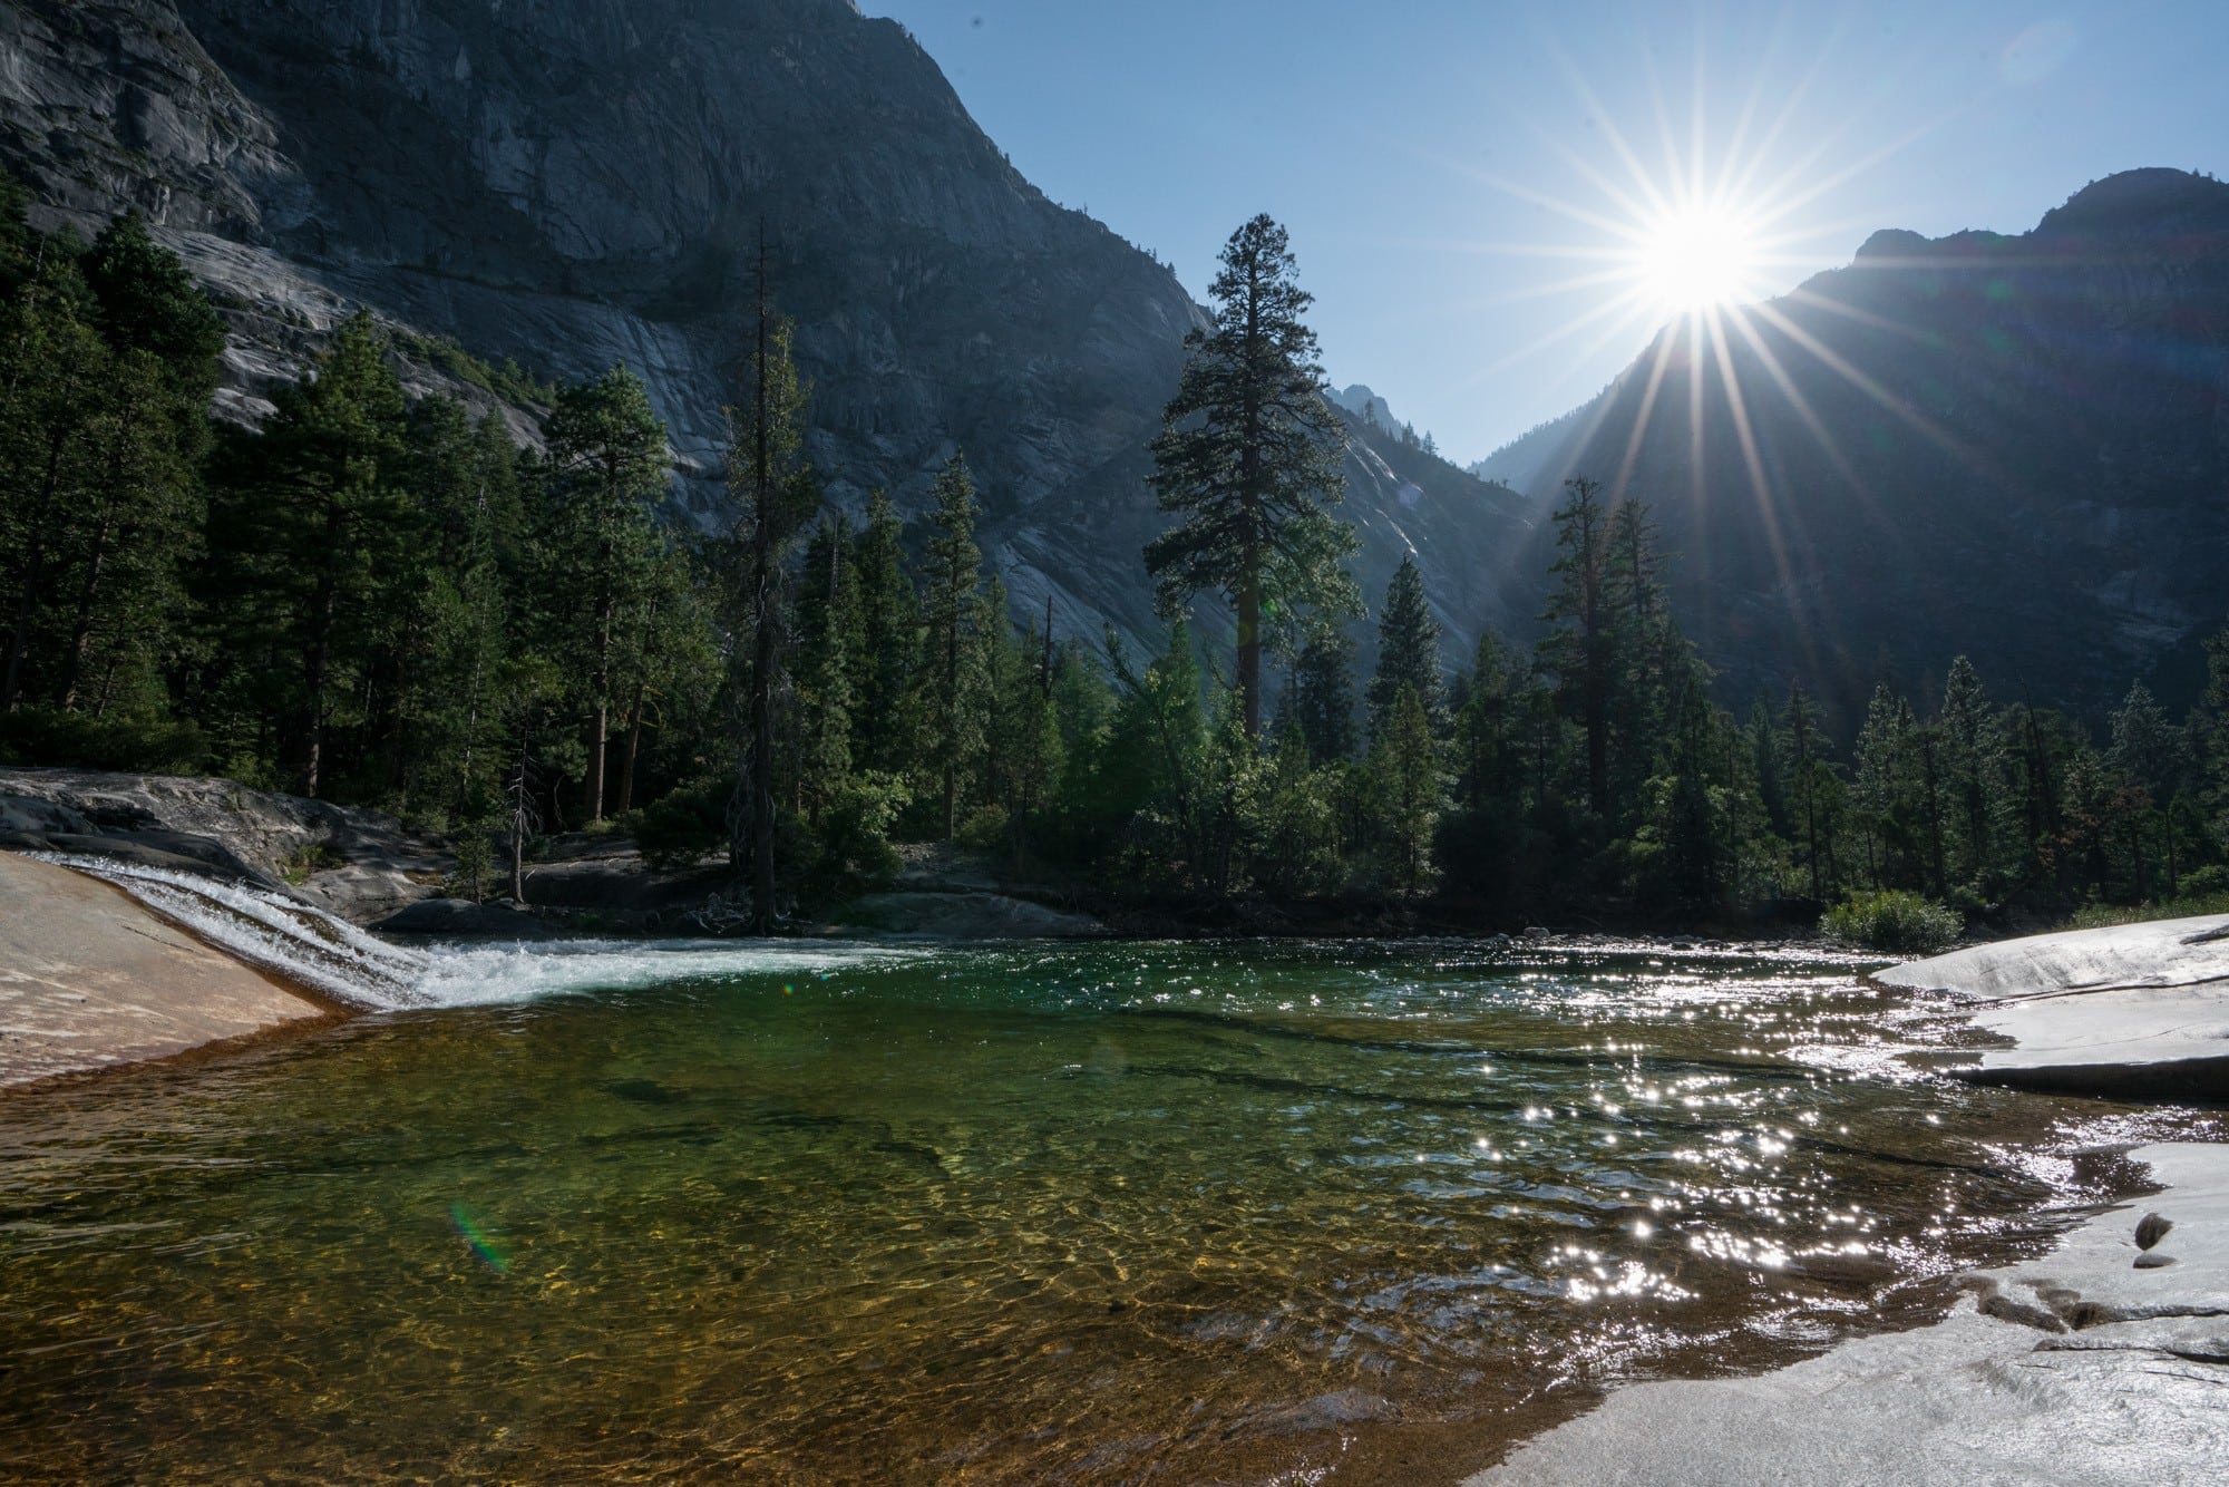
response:
M65 852L27 856L114 883L218 950L366 1012L533 1001L713 976L805 979L929 954L796 941L537 941L417 950L390 945L325 910L254 883Z

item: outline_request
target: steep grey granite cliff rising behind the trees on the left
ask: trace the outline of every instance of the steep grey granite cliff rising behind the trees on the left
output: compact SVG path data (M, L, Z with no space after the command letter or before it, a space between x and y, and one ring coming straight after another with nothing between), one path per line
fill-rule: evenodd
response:
M553 377L626 361L700 519L765 234L829 495L885 486L918 513L961 448L1019 606L1150 629L1143 446L1199 310L1023 181L903 27L847 0L18 4L0 156L51 210L158 223L232 319L239 417L368 303ZM1366 586L1420 522L1424 486L1384 464L1351 466ZM1518 517L1451 475L1429 519ZM1487 568L1435 580L1464 629L1493 615Z

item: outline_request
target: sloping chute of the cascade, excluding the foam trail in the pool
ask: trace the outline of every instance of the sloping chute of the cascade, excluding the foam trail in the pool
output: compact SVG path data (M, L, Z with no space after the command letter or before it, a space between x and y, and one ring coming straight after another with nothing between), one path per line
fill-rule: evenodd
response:
M419 990L432 965L430 956L390 945L296 898L254 883L225 883L105 856L65 852L29 856L114 883L218 950L352 1008L392 1012L432 1005Z

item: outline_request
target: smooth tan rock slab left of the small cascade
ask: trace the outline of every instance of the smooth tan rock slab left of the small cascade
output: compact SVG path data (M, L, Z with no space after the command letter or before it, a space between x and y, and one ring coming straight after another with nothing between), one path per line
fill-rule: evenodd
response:
M0 852L0 1086L317 1017L107 883Z

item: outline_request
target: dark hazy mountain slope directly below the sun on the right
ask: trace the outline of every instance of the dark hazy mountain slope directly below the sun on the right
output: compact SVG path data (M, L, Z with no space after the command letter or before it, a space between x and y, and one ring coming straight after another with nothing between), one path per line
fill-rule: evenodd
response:
M1739 404L1721 348L1665 332L1482 468L1652 502L1741 693L1803 678L1852 713L1959 651L2037 702L2153 667L2193 691L2229 562L2229 185L2140 169L2022 236L1877 232L1736 319Z

